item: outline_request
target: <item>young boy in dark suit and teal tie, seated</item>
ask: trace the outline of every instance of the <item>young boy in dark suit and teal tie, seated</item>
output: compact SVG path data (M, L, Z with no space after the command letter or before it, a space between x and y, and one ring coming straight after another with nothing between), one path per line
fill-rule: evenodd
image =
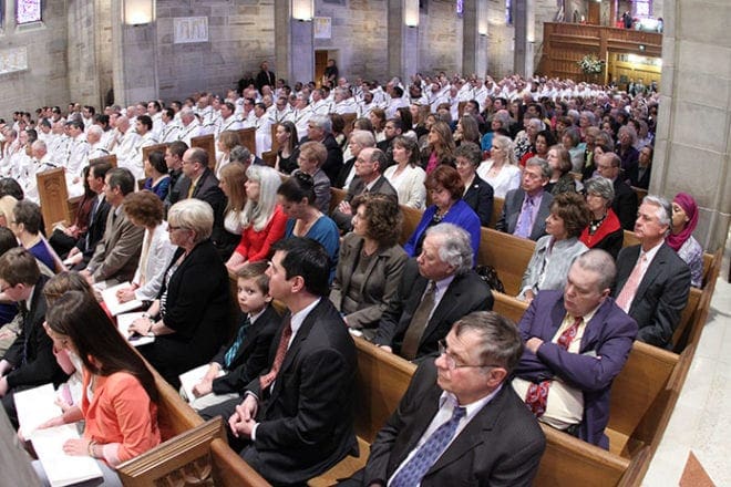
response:
M269 345L281 317L271 305L267 262L249 262L237 273L238 305L244 313L233 341L222 346L203 380L193 387L191 406L200 411L235 398L267 366ZM220 371L225 375L220 375Z

